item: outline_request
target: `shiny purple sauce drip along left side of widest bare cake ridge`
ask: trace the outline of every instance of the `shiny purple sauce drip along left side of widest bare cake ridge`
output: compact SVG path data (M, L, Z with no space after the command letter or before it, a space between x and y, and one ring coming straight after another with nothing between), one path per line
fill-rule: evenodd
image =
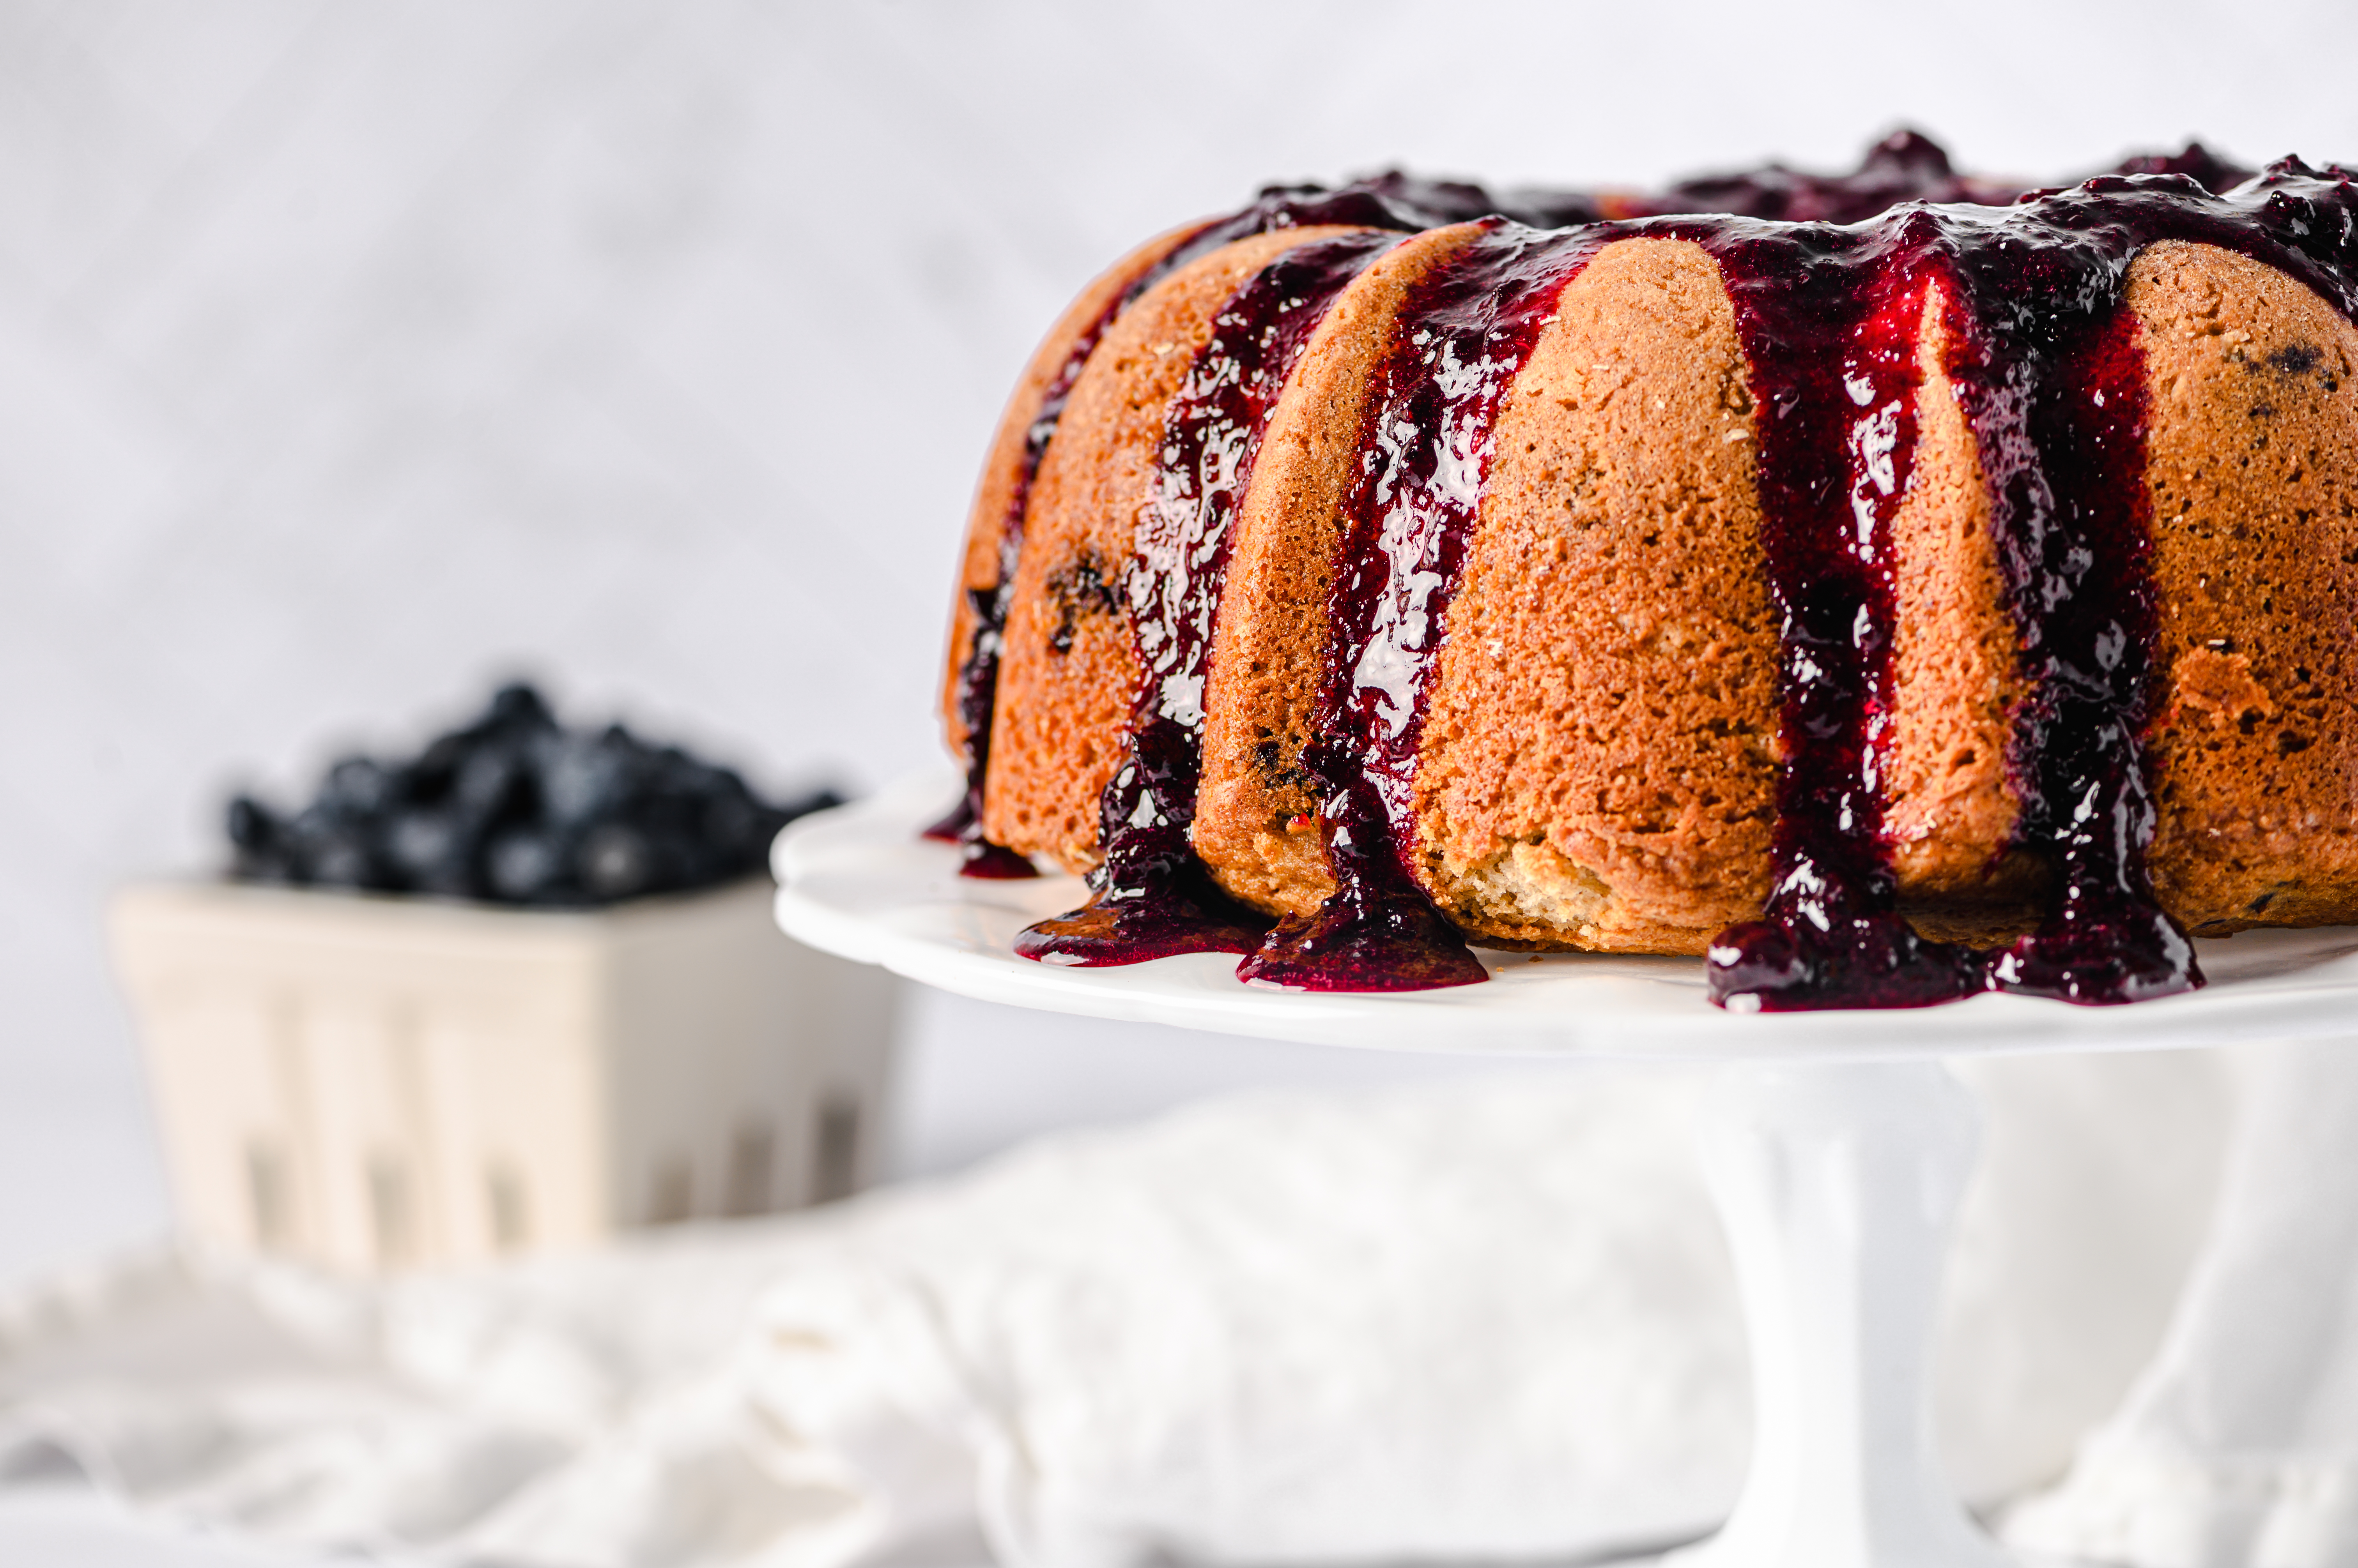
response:
M1490 979L1405 863L1410 790L1441 632L1490 467L1497 408L1603 243L1596 229L1495 224L1401 307L1375 382L1344 547L1328 597L1328 665L1302 769L1335 894L1285 920L1243 964L1299 990L1429 990Z

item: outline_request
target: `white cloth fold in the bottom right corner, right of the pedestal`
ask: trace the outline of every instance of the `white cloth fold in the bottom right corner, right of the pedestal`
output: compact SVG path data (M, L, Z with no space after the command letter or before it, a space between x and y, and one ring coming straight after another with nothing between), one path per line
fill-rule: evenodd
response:
M2007 1537L2134 1568L2358 1563L2358 1049L2254 1063L2160 1356Z

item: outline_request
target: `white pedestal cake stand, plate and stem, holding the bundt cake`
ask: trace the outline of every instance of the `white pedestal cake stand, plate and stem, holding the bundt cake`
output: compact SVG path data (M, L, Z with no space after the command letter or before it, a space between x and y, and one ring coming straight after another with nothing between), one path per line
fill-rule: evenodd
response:
M1985 995L1922 1012L1735 1016L1698 960L1483 953L1488 986L1247 988L1224 955L1125 969L1021 960L1075 877L974 882L917 839L943 776L804 818L776 844L778 924L986 1002L1396 1052L1721 1063L1702 1155L1745 1299L1754 1457L1681 1568L1995 1568L1931 1443L1926 1353L1978 1108L1945 1059L2358 1035L2358 929L2198 943L2209 988L2136 1007Z

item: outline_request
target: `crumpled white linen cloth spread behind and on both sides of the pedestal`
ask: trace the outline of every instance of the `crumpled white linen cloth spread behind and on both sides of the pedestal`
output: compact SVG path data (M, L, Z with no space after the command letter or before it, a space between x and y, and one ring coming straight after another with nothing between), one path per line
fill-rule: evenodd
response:
M2153 1351L2205 1056L1974 1070L1969 1495ZM0 1306L0 1474L502 1566L1580 1556L1707 1530L1745 1349L1691 1078L1254 1096L806 1219L396 1283L160 1259Z

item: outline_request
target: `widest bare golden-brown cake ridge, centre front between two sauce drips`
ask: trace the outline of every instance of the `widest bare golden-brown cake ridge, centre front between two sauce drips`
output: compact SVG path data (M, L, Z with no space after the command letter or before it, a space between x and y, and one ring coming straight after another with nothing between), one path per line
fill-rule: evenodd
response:
M1415 780L1427 891L1486 941L1700 953L1766 896L1776 658L1719 266L1606 245L1500 413Z

